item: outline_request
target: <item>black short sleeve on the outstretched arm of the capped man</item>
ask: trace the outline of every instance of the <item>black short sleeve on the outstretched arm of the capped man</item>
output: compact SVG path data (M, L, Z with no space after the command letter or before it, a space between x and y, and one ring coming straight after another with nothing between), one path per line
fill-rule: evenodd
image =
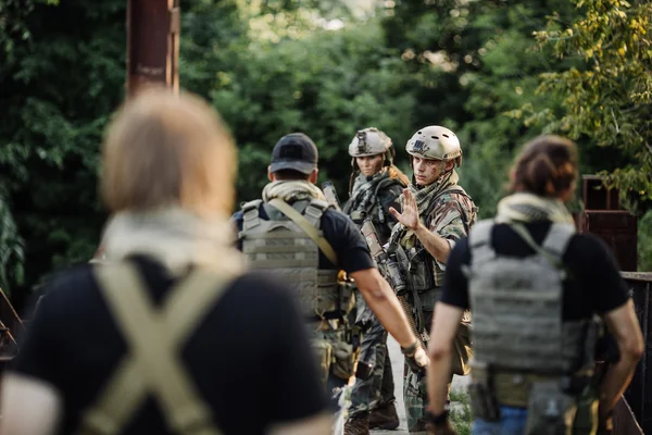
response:
M349 216L328 210L322 219L322 228L337 254L339 266L347 273L376 266L364 236Z

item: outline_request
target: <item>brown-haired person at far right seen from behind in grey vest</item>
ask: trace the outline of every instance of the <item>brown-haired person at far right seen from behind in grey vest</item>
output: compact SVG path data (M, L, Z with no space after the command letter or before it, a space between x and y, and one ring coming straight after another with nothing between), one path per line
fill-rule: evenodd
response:
M514 194L451 252L429 347L430 433L452 432L442 373L468 307L474 434L609 431L643 341L611 253L600 239L575 233L564 206L575 187L576 156L575 145L556 136L527 144L512 170ZM588 396L600 318L620 359L599 394Z

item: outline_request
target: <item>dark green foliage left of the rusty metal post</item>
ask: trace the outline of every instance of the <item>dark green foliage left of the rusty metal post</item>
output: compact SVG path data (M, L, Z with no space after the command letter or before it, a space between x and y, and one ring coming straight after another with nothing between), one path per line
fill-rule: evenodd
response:
M5 266L10 288L95 251L99 145L123 98L126 2L51 4L30 3L15 15L22 32L1 37L12 61L0 74L0 186L16 224L4 219L2 229L25 246L24 283Z

